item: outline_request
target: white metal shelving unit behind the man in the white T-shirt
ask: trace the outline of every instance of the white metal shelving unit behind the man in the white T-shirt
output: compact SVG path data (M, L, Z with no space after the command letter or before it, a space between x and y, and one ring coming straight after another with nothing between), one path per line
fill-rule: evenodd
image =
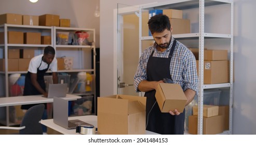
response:
M7 32L8 31L21 31L21 32L40 32L42 34L42 36L45 35L50 35L51 36L51 45L30 45L30 44L8 44L8 40L7 40ZM91 32L92 37L92 44L88 45L88 46L73 46L73 45L57 45L56 44L56 32L58 31L68 31L68 32L74 32L74 31L83 31L83 32ZM80 71L86 71L86 72L90 72L91 74L93 74L93 80L95 81L95 77L96 77L96 72L95 72L95 68L96 68L96 48L95 48L95 29L91 29L91 28L72 28L72 27L56 27L56 26L31 26L31 25L14 25L14 24L3 24L0 25L0 32L4 32L4 44L0 45L0 50L3 50L3 59L8 59L5 56L8 56L8 49L23 49L23 48L28 48L28 49L35 49L35 50L39 50L42 51L46 46L52 46L53 48L55 48L56 50L56 56L58 55L58 49L73 49L73 50L78 50L79 51L79 63L80 63L80 68L78 69L71 69L71 70L59 70L58 72L68 72L68 73L73 73L73 72L80 72ZM83 51L84 50L88 50L89 54L91 55L91 50L93 50L93 52L95 52L92 57L93 57L93 67L90 65L86 65L84 64L86 61L91 61L91 59L88 59L86 57L84 57L83 55ZM5 61L5 71L0 71L0 75L4 76L4 81L5 83L3 83L5 85L5 87L3 88L3 92L5 92L4 96L1 97L10 97L9 94L9 80L8 80L8 76L10 74L26 74L27 71L8 71L8 61ZM47 71L47 72L51 72L51 71ZM96 83L93 83L93 92L91 93L79 93L79 94L75 94L75 95L94 95L94 105L96 106L96 89L95 89ZM96 108L95 112L96 112ZM1 114L1 120L0 123L4 124L6 126L11 126L11 125L17 125L15 123L11 123L9 120L9 107L6 107L6 111L5 111L5 119L3 117L3 114Z

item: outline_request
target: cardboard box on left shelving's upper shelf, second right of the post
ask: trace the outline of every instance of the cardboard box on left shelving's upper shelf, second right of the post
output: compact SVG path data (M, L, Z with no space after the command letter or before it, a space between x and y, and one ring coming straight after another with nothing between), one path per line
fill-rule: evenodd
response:
M41 45L41 33L38 33L38 32L24 33L24 44Z

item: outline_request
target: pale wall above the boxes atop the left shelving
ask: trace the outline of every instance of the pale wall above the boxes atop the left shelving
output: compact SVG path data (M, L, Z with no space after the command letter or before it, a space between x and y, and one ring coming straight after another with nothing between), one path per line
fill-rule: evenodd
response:
M100 44L100 18L93 16L95 0L1 0L0 14L19 13L21 15L40 16L46 13L59 15L60 19L70 19L71 27L95 28L96 47Z

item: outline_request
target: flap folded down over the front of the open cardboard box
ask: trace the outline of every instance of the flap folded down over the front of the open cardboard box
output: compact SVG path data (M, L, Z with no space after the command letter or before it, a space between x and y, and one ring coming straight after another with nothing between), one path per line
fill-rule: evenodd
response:
M115 113L127 115L128 112L128 100L127 99L116 99L116 95L109 97L101 97L98 99L98 112ZM104 109L107 108L107 109Z

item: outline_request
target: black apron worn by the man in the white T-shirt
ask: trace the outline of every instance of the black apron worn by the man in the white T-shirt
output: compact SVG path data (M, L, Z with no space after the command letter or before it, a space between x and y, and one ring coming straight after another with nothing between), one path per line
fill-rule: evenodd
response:
M43 57L42 57L42 60L41 60L41 63L39 65L39 67L41 66L42 64L42 61L43 61ZM45 72L49 69L49 64L47 66L46 69L43 69L43 70L39 70L39 67L37 68L37 73L36 73L36 76L37 76L37 79L36 81L39 83L39 85L41 86L41 88L46 91L46 85L45 85L45 80L44 80L44 75L45 75ZM24 91L23 91L23 96L28 96L28 95L42 95L42 93L40 93L39 91L37 91L37 89L35 88L35 86L32 84L31 82L31 72L28 71L28 73L26 74L26 77L25 77L25 85L24 85ZM25 109L25 110L28 110L30 107L32 106L35 106L37 104L28 104L28 105L22 105L21 106L21 109ZM47 104L44 103L45 105L45 109L47 109Z

